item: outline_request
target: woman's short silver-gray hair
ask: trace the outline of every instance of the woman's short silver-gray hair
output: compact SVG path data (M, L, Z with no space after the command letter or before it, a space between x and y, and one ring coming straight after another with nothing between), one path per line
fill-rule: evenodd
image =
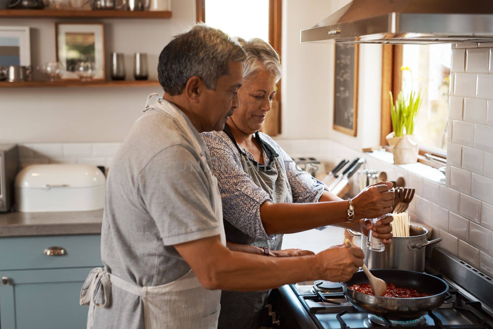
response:
M276 83L281 79L282 67L279 54L269 43L259 38L248 41L240 37L236 39L246 52L246 61L243 62L243 81L248 81L263 70L274 74Z

